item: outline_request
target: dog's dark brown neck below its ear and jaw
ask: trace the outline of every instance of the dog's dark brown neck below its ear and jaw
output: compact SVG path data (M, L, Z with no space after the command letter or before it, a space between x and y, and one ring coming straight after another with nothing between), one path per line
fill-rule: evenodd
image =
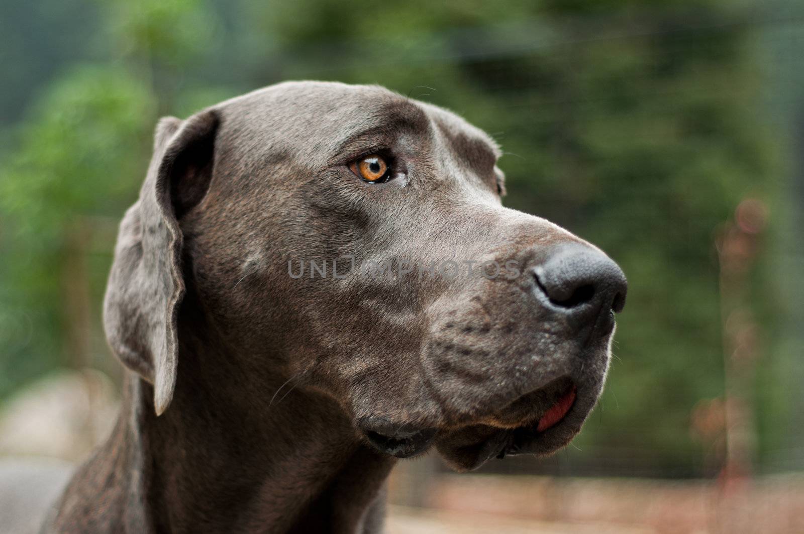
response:
M232 372L225 358L183 350L160 417L150 384L126 377L117 426L72 480L56 530L379 531L392 458L361 444L334 401L315 392L295 388L266 413L255 392L238 391L242 376L221 376Z

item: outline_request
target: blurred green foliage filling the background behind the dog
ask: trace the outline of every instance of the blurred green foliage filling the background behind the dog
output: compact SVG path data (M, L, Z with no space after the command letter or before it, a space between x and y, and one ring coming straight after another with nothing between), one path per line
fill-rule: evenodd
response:
M135 199L160 114L185 117L291 78L379 83L493 134L506 151L507 205L593 241L626 271L609 386L576 442L591 452L572 461L619 451L650 474L703 472L691 409L724 391L716 228L745 196L772 203L779 191L778 138L761 107L771 82L751 26L761 11L725 0L75 6L100 23L47 25L54 45L75 43L90 64L64 59L58 74L23 80L43 89L24 99L22 120L2 125L13 140L0 160L0 396L48 368L110 359L99 309L113 227ZM9 58L22 72L40 55ZM72 279L76 254L86 268ZM753 305L771 327L767 278L755 277L765 297ZM69 305L76 284L88 324ZM76 349L76 331L92 342ZM768 448L784 432L786 393L761 395Z

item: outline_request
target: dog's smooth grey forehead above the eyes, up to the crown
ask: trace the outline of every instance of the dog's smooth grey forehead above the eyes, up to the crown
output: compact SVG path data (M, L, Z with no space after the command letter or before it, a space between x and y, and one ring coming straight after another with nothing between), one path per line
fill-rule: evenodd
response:
M436 105L404 97L379 85L285 82L215 106L226 117L233 140L284 147L308 157L337 152L361 134L412 134L444 138L461 158L498 158L494 141L474 125Z

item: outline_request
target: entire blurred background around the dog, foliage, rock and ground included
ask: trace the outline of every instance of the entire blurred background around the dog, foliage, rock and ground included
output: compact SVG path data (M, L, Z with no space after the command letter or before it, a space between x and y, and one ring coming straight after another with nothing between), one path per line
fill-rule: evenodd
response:
M390 532L804 532L798 0L0 3L0 454L114 417L100 302L158 117L383 84L505 150L510 207L625 270L608 385L551 458L402 462Z

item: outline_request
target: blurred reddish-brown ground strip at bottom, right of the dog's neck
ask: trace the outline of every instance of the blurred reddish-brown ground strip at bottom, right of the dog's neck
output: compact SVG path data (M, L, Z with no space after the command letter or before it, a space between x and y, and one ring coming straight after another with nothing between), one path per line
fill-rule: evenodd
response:
M712 481L448 474L426 491L426 507L389 508L388 532L804 532L804 475L727 489Z

